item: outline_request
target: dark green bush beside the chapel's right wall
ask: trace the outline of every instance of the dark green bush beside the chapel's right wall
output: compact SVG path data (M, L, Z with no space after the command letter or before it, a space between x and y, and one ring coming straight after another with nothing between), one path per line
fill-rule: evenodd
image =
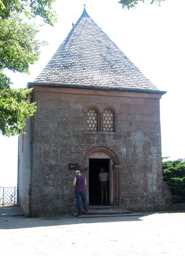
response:
M162 165L163 180L172 189L173 201L185 201L185 162L166 161Z

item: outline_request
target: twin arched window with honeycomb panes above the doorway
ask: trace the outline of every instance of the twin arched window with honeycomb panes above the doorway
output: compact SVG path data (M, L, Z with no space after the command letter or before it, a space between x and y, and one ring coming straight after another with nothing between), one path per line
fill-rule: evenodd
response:
M89 108L87 112L87 131L114 132L115 117L111 108L105 108L99 113L96 108Z

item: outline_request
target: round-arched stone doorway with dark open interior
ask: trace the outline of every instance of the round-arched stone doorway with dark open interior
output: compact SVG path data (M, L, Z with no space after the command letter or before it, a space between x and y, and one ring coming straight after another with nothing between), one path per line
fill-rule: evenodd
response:
M109 204L113 205L114 201L114 170L113 166L119 164L116 154L105 147L96 147L89 151L85 157L84 164L89 165L86 172L86 198L88 205L100 203L100 184L98 181L100 167L104 166L109 173Z

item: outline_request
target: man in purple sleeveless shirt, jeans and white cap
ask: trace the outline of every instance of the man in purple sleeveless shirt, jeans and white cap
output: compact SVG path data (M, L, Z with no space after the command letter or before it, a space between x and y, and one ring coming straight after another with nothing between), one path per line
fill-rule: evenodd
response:
M86 178L84 175L81 175L80 171L75 172L75 177L73 181L73 186L75 187L75 196L76 196L76 204L77 204L77 209L78 213L76 214L77 216L81 216L81 203L80 203L80 197L83 203L83 208L85 213L88 212L87 209L87 204L86 204L86 198L85 198L85 186L87 185L86 183Z

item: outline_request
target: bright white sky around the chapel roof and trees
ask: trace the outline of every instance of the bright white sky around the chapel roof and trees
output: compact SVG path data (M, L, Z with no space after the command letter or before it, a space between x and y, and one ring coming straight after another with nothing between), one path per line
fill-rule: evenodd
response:
M56 0L58 14L54 27L40 29L39 37L49 45L40 60L30 67L30 76L7 74L13 87L26 87L46 66L83 12L86 11L127 57L160 90L167 91L160 100L162 156L170 160L185 157L184 136L184 60L185 1L166 0L141 4L136 10L123 10L118 0ZM0 186L17 185L18 138L0 135Z

